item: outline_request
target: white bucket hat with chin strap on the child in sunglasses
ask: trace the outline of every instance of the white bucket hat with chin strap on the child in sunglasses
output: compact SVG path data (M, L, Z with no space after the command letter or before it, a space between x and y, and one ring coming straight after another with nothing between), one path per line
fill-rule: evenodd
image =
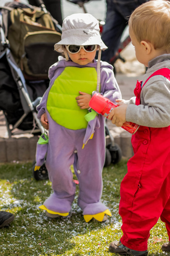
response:
M54 45L58 52L65 54L66 61L69 60L65 45L99 45L97 63L97 88L100 88L100 58L101 50L107 49L100 36L99 22L89 13L75 13L63 20L61 41Z

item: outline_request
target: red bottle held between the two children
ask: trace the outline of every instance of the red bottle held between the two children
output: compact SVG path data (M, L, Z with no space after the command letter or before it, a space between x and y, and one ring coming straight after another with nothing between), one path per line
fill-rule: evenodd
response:
M112 111L112 109L116 108L118 105L114 104L112 101L103 97L99 93L95 93L89 101L89 106L99 114L108 118L108 115ZM125 122L122 125L122 128L130 132L131 134L134 134L139 128L139 124Z

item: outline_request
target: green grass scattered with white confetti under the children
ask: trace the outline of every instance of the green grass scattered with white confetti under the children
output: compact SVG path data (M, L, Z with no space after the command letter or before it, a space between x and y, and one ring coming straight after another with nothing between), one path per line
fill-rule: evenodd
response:
M38 206L50 195L51 182L36 181L32 163L1 164L0 209L14 213L15 220L0 229L0 256L112 256L109 244L122 235L119 190L126 164L122 160L103 170L102 201L112 212L104 223L84 221L77 206L78 186L70 214L48 218ZM160 251L167 239L165 224L159 220L148 240L149 255L168 255Z

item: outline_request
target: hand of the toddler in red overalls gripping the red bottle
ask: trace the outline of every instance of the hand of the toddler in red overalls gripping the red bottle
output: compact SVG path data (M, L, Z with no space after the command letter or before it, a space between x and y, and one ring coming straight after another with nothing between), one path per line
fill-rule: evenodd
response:
M118 100L116 100L118 102ZM122 101L118 102L118 107L114 108L108 115L108 119L118 127L121 127L126 122L127 105Z

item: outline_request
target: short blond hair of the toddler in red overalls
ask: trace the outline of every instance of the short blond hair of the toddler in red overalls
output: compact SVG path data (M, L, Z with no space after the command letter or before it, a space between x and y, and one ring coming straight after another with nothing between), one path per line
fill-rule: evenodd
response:
M139 43L148 41L170 53L170 2L150 0L140 5L130 16L129 29Z

